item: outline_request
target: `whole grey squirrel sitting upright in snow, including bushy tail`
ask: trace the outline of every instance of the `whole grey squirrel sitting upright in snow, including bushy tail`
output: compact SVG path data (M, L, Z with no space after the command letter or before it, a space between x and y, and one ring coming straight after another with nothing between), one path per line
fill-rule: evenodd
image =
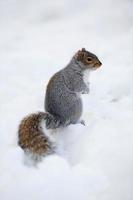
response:
M25 117L18 129L18 144L26 152L38 157L56 152L48 129L57 129L70 124L81 123L81 94L89 93L84 77L87 71L99 68L102 63L96 55L82 48L70 63L57 72L49 81L45 96L46 112L33 113ZM45 125L45 130L43 129Z

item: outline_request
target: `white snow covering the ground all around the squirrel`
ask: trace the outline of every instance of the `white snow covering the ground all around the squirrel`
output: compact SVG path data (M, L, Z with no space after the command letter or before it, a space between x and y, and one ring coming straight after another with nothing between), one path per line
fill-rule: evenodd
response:
M0 1L1 200L133 199L132 24L131 0ZM28 167L18 124L82 47L103 63L83 96L86 126L61 130L60 155Z

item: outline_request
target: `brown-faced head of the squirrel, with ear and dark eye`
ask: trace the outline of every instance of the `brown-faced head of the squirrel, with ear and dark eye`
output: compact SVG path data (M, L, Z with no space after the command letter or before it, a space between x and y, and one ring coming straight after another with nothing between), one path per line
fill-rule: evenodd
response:
M74 58L76 58L78 62L82 63L82 65L84 66L84 69L95 70L102 65L98 57L95 54L89 51L86 51L85 48L82 48L82 50L79 50L75 54Z

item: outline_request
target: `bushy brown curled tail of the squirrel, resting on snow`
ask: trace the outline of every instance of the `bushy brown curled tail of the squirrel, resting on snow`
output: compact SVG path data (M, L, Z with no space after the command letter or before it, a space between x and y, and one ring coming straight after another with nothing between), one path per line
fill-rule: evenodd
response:
M54 144L43 132L42 122L47 118L43 112L31 114L25 117L18 130L18 144L28 153L45 156L54 153Z

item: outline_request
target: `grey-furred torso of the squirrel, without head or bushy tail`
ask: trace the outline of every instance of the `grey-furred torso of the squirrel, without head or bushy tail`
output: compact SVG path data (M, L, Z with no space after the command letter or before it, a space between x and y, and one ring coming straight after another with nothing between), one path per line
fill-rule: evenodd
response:
M66 68L52 77L51 89L46 91L45 109L58 121L57 127L78 123L82 115L80 94L88 92L83 70L73 58ZM47 128L57 128L51 123L46 123Z

